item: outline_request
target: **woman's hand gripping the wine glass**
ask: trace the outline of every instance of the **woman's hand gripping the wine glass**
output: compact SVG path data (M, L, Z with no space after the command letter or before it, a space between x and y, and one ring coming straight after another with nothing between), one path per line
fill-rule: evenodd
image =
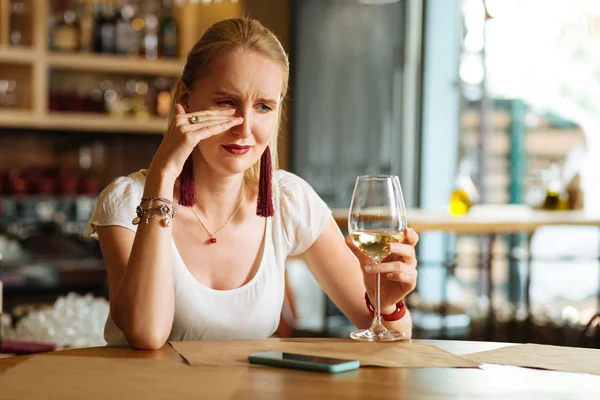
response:
M404 299L417 285L417 258L415 245L419 235L413 229L407 229L403 243L391 243L391 254L378 265L364 255L346 237L346 244L360 262L365 287L371 302L375 304L375 284L377 273L381 273L381 312L389 314L395 311L396 303Z

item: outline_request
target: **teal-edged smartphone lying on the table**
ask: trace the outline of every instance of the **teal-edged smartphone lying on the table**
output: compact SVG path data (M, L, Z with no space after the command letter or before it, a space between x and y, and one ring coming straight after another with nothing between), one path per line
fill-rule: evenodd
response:
M248 361L250 361L250 364L329 373L351 371L360 367L358 360L343 360L339 358L309 356L306 354L283 353L280 351L250 354Z

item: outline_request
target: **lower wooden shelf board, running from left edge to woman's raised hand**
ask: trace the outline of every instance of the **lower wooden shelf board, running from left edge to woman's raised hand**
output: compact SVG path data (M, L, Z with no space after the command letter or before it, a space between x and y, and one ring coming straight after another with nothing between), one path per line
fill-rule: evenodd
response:
M79 132L162 134L167 121L149 119L114 118L108 115L83 113L51 113L37 116L25 110L0 110L3 127L29 129L58 129Z

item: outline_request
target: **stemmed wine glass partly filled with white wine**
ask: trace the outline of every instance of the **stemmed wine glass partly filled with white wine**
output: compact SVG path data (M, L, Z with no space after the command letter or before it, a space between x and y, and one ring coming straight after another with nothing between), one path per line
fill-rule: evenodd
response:
M379 264L391 254L390 243L402 243L406 230L406 208L400 179L392 175L364 175L356 179L348 216L352 241ZM406 339L403 332L387 329L381 319L381 276L376 275L375 313L369 329L352 332L350 337L368 342Z

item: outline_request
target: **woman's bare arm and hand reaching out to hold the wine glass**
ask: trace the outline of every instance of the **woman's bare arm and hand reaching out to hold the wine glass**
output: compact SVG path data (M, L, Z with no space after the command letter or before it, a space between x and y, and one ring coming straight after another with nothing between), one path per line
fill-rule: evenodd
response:
M337 224L330 218L325 228L302 254L302 258L325 293L358 328L368 328L373 317L365 304L365 290L374 303L375 277L381 275L381 312L396 310L396 303L404 299L416 286L417 271L414 246L418 235L407 230L404 244L394 244L392 255L376 267L352 241L344 240ZM371 267L371 268L369 268ZM412 336L410 314L398 321L385 321L391 329Z

